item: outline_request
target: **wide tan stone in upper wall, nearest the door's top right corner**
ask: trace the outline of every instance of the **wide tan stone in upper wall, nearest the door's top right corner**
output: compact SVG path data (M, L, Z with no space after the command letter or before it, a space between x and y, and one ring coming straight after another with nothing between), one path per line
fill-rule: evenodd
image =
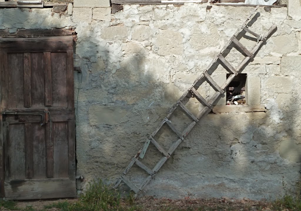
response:
M126 40L128 37L128 27L111 26L108 28L104 28L101 31L100 37L105 40Z

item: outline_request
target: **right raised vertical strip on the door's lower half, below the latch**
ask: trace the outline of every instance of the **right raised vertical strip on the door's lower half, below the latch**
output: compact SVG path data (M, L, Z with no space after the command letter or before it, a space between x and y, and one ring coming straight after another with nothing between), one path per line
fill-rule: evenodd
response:
M52 130L51 130L50 123L46 124L46 146L47 146L47 177L51 178L53 177L53 142L52 142Z

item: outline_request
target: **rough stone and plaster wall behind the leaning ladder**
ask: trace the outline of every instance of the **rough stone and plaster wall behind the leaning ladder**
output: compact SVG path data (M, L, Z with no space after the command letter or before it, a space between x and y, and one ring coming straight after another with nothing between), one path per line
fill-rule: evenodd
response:
M77 182L79 191L93 178L116 181L172 104L253 10L189 3L124 5L111 14L106 2L102 7L94 3L74 2L64 14L0 9L0 29L11 32L76 29L74 61L82 69L74 77L76 158L77 174L85 176ZM144 194L269 199L295 188L301 162L300 18L298 11L288 16L287 8L258 12L254 31L264 33L273 23L278 29L243 70L248 106L229 108L221 98L215 113L197 123ZM250 48L257 40L244 36L241 42ZM243 58L235 49L226 57L234 66ZM221 84L226 73L219 65L213 78ZM202 88L206 99L214 94L209 84ZM194 113L200 110L198 102L189 103ZM180 123L190 120L178 111L171 121L181 129ZM156 140L167 148L172 138L163 128ZM143 162L153 167L158 158L150 146ZM142 179L138 172L133 168L129 174L135 182Z

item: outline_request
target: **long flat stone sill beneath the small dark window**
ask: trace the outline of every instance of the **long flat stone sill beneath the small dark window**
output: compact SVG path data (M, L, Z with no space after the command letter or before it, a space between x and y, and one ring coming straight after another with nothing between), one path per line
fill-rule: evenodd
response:
M264 106L259 105L216 105L213 113L265 112Z

